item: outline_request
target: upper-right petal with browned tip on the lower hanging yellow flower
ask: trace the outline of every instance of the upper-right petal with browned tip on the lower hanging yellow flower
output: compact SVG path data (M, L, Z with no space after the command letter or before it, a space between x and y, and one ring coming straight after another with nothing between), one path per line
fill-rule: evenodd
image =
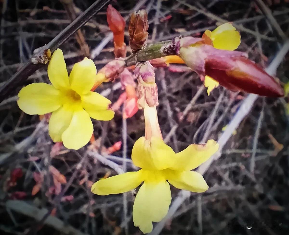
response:
M207 161L219 148L213 139L206 144L191 144L183 151L176 154L176 164L171 169L192 170Z

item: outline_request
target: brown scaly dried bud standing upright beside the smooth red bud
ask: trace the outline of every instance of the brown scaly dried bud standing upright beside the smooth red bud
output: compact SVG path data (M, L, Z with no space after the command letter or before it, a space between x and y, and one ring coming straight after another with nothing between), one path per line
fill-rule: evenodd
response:
M133 53L143 49L147 45L149 22L147 12L141 10L131 14L129 22L129 45Z

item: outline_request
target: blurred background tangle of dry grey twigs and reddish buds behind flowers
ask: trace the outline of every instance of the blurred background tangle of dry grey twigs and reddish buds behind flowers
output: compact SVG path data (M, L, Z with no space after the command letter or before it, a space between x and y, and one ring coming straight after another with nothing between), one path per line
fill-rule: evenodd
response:
M73 12L79 15L93 2L73 0ZM247 0L110 1L127 26L131 12L147 10L149 44L178 35L199 37L206 29L234 22L241 34L238 50L265 68L289 34L289 1L263 2L266 8ZM49 43L71 20L58 0L0 4L1 86L34 49ZM84 56L92 58L97 69L114 59L106 8L81 27L82 39L71 36L61 45L68 71ZM130 53L128 48L127 56ZM281 61L277 76L286 84L288 54ZM179 152L191 143L217 140L247 94L219 86L208 96L196 73L175 70L158 68L155 74L161 131L165 142ZM25 85L32 82L49 82L47 67ZM95 142L68 150L51 141L45 117L18 108L21 87L0 103L0 234L142 234L132 221L133 195L90 192L92 183L103 177L136 170L130 156L134 142L144 135L142 111L125 120L120 108L109 122L93 120ZM123 92L118 79L96 91L112 103ZM185 194L171 186L174 210L152 234L289 234L287 101L257 98L221 157L203 172L209 190Z

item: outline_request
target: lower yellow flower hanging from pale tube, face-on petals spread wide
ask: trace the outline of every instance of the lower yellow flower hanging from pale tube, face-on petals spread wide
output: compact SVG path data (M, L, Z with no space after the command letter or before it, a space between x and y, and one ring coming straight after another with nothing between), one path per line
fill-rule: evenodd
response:
M209 140L207 144L191 144L175 153L164 141L152 136L150 140L140 137L134 144L131 159L142 168L97 181L91 191L98 195L127 192L144 183L138 190L133 205L133 221L143 233L153 229L152 222L161 221L171 204L168 184L191 192L205 192L208 185L203 176L191 171L208 160L218 150L218 144ZM167 182L168 181L168 182Z

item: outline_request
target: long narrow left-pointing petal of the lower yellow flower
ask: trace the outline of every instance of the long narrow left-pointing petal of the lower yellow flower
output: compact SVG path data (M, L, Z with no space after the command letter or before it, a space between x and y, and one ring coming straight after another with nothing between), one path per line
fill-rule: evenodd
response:
M97 181L92 185L91 192L98 195L123 193L136 188L142 181L142 170L126 172Z

